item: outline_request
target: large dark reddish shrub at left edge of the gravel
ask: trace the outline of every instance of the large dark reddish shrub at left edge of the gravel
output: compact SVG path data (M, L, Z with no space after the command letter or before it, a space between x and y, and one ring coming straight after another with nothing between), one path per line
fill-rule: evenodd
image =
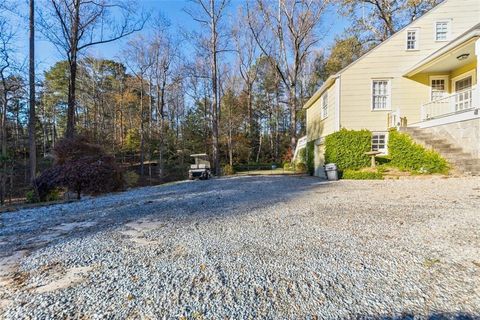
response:
M36 180L40 200L55 188L81 193L100 194L123 188L120 168L112 156L84 137L63 139L54 148L55 162Z

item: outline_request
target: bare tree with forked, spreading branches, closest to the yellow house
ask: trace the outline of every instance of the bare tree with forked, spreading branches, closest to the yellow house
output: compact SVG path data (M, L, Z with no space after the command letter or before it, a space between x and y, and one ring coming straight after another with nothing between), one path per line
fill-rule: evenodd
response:
M247 7L250 30L276 69L288 91L290 107L290 147L297 142L297 111L300 75L308 55L320 40L317 27L326 9L322 0L257 0L255 9Z

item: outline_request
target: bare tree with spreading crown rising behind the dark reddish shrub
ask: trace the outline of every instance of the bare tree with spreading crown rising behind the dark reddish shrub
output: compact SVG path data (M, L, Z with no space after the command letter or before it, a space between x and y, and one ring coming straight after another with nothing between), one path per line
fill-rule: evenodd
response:
M76 123L75 89L79 54L94 45L113 42L141 30L146 17L135 14L133 3L120 0L46 1L44 8L47 10L40 14L42 33L65 55L69 64L66 136L72 137Z

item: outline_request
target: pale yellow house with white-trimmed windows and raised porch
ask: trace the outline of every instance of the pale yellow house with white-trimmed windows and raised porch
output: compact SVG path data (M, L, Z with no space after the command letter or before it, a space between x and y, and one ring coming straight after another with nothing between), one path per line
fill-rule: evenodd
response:
M385 154L389 128L428 129L480 157L479 59L480 0L445 0L331 76L304 106L315 174L341 128L372 131Z

